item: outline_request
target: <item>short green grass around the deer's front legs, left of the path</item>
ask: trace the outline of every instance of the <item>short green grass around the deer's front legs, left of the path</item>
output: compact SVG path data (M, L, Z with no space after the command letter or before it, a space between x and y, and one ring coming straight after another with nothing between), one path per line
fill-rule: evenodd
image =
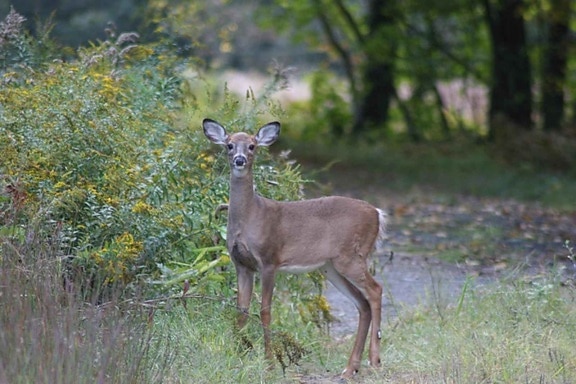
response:
M280 383L311 372L339 372L347 353L334 359L333 350L325 347L331 344L328 335L313 324L303 324L291 305L282 304L283 295L280 292L275 298L272 343L275 354L282 355L285 371L279 360L271 365L264 357L258 303L253 302L248 324L239 333L234 327L237 312L232 298L220 302L198 298L188 300L185 307L177 303L169 310L159 310L154 316L154 333L165 340L155 352L158 356L175 353L165 373L167 381ZM297 364L290 363L288 356L295 351L303 353L296 356ZM333 366L333 361L338 365Z

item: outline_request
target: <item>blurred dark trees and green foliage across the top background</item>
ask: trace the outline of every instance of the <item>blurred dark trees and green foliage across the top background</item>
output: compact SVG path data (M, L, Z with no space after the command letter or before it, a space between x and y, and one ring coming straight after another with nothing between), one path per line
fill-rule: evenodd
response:
M570 139L576 61L569 49L575 23L569 0L117 3L19 6L30 19L56 11L54 33L64 44L94 39L95 26L101 33L116 23L146 38L161 34L179 54L211 69L263 71L275 59L301 73L320 72L311 84L322 79L331 92L316 98L322 108L298 111L306 114L300 125L308 133L322 134L319 127L327 125L348 139L466 134L504 140L504 146L509 136L522 136L538 147L541 137L526 132L543 131L551 137L550 153L566 151L554 145L558 133L572 141L567 156L576 147ZM0 0L0 11L7 7ZM35 30L41 35L43 28ZM334 103L336 95L345 103ZM501 132L507 129L512 135Z

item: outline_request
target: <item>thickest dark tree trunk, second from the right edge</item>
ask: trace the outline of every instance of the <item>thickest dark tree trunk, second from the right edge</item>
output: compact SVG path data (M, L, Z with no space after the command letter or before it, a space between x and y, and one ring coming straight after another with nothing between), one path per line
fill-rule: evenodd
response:
M494 140L502 124L532 128L532 76L523 0L483 0L483 4L492 43L489 139Z

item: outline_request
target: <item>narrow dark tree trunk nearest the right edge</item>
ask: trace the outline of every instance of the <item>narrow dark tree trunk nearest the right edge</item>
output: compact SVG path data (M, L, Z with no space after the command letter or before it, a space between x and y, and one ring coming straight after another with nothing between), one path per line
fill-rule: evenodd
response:
M570 1L552 0L542 67L542 117L545 131L560 131L564 121L564 84L569 48Z

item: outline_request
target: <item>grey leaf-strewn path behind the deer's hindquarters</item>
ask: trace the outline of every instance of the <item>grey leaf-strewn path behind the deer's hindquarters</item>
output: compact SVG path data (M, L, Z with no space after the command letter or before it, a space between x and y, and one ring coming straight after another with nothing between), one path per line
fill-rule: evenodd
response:
M576 277L566 241L576 242L576 212L537 202L410 192L400 195L381 183L330 174L330 194L370 201L389 214L388 249L374 255L384 287L383 321L418 304L457 300L464 283L490 284L507 276L534 276L556 269ZM368 179L370 179L370 176ZM311 191L311 195L325 193ZM391 258L391 256L393 256ZM357 312L332 286L326 296L336 322L331 332L351 337Z

